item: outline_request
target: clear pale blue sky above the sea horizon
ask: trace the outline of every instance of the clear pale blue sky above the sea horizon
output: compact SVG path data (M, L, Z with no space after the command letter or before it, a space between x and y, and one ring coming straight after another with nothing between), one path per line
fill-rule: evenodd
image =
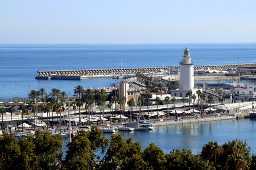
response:
M255 7L255 0L0 0L0 43L256 42Z

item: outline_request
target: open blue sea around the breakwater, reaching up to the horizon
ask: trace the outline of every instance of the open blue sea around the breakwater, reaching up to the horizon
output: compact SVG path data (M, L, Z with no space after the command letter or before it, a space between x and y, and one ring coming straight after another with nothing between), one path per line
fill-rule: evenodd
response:
M84 87L110 87L116 79L35 80L38 70L107 69L178 65L184 46L196 65L256 62L256 44L0 44L0 97L26 97L44 87L69 92Z

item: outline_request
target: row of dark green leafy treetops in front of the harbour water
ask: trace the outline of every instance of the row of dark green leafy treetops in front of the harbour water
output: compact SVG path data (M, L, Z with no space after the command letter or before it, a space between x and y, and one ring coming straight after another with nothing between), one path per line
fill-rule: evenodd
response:
M142 150L139 142L113 134L108 139L92 126L92 131L77 134L68 143L61 161L60 135L36 131L21 141L14 134L0 137L0 169L256 169L256 156L250 155L246 142L231 141L219 145L208 142L199 155L192 150L174 149L170 154L154 143ZM104 156L98 157L98 151Z

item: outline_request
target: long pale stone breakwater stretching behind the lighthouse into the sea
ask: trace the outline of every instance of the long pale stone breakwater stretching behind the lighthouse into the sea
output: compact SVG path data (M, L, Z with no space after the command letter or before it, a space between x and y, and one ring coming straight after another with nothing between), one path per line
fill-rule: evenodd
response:
M245 63L240 65L211 65L211 66L195 66L195 70L228 70L237 68L246 69L246 67L256 67L256 63ZM77 79L83 76L84 78L117 76L117 75L134 75L136 73L179 73L178 66L168 67L141 67L141 68L126 68L126 69L86 69L86 70L52 70L52 71L38 71L38 79L47 79L48 76L78 76ZM65 78L65 77L62 77Z

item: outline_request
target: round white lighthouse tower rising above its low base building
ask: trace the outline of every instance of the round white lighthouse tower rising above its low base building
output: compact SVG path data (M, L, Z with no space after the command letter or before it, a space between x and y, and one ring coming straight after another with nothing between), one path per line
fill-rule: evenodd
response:
M184 55L180 61L180 90L194 90L194 63L191 62L188 47L184 50Z

